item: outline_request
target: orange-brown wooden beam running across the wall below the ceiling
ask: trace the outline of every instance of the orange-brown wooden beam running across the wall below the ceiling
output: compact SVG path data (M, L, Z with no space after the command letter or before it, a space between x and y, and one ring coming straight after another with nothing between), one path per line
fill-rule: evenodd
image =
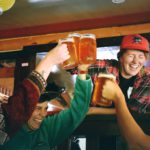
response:
M97 38L123 36L123 35L134 34L134 33L142 34L142 33L150 33L150 23L82 30L82 31L75 31L75 32L94 33ZM69 33L70 32L64 32L64 33L43 34L37 36L2 39L0 40L0 51L4 52L4 51L12 51L12 50L21 50L23 49L24 46L28 46L28 45L57 43L59 38L63 38L67 36Z

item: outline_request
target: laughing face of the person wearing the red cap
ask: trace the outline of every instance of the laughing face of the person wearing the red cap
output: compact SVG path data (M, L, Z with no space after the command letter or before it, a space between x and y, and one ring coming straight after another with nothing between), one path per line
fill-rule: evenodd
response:
M120 58L121 75L129 79L138 74L146 62L144 52L138 50L127 50Z

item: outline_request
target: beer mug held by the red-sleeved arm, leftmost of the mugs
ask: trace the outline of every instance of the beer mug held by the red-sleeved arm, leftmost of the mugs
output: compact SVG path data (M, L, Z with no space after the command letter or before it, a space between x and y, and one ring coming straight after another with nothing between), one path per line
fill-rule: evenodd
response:
M70 54L70 58L63 62L62 66L64 69L71 69L78 65L77 51L74 43L74 39L71 37L59 39L59 43L67 44L67 48Z

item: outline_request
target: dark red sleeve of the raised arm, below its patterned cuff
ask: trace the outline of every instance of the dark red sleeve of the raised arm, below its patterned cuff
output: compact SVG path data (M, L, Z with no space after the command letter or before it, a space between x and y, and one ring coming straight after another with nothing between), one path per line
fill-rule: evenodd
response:
M40 92L37 86L25 79L9 98L8 104L3 104L7 130L11 136L17 132L30 118L38 100Z

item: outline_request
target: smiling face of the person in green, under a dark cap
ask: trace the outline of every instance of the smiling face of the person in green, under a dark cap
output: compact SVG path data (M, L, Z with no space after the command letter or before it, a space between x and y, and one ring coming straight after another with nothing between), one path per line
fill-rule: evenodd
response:
M32 116L28 120L28 127L31 130L36 130L40 127L43 119L47 115L48 102L38 103L34 109Z

